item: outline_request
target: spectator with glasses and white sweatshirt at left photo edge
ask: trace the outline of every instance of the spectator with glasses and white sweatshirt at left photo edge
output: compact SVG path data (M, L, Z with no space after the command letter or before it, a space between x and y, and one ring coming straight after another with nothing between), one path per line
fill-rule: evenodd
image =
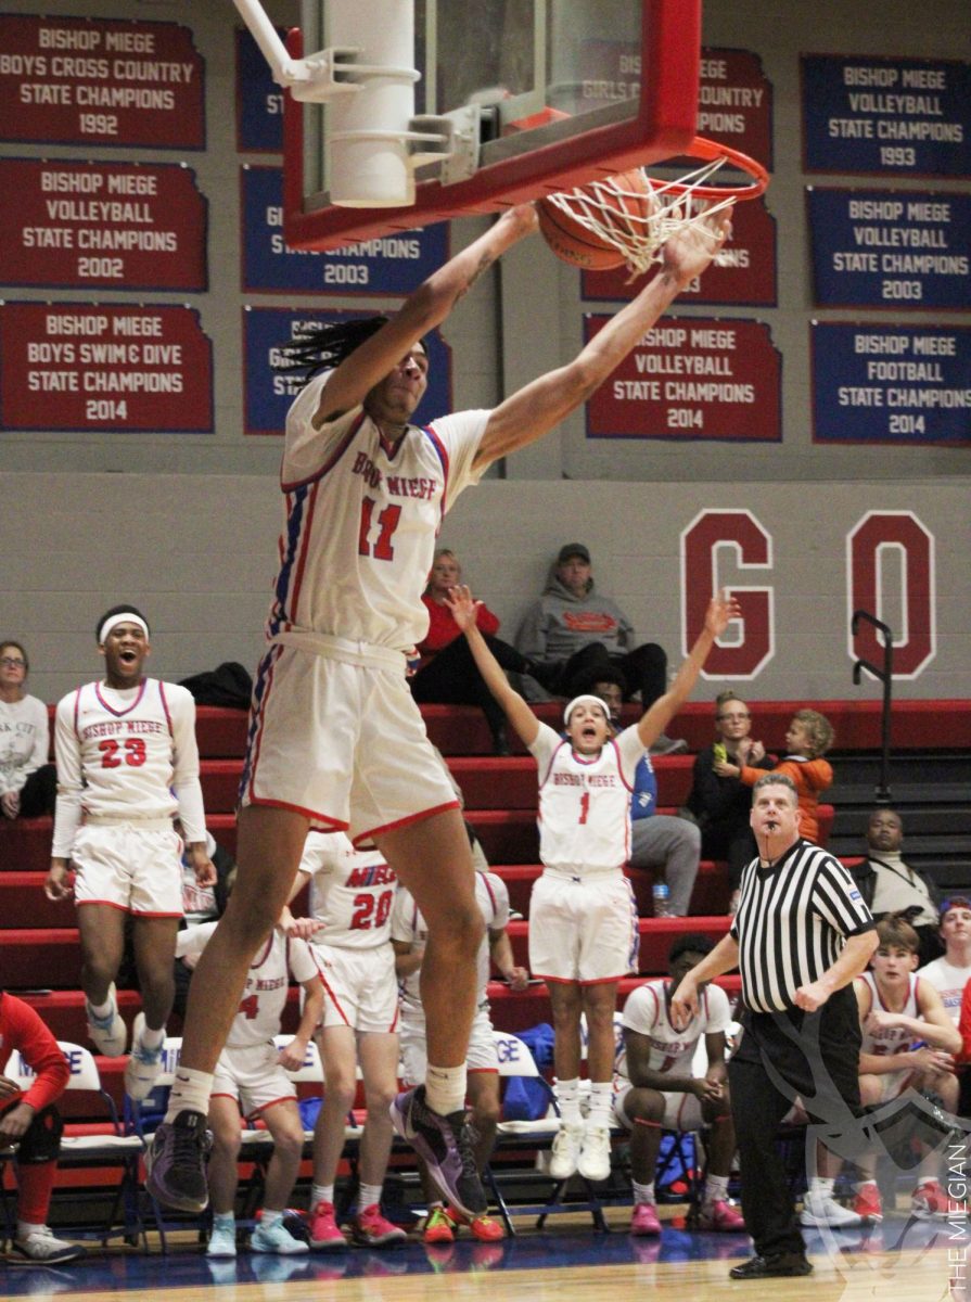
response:
M10 819L53 814L57 794L47 706L23 690L29 671L21 643L0 642L0 814Z

